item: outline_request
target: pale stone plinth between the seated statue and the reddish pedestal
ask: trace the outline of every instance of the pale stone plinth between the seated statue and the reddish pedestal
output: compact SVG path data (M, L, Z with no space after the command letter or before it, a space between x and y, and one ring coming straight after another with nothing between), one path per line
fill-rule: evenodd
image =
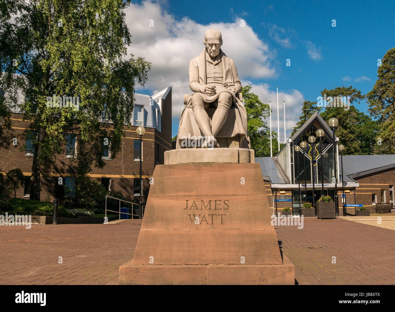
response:
M165 151L165 164L254 163L248 148L182 148Z

